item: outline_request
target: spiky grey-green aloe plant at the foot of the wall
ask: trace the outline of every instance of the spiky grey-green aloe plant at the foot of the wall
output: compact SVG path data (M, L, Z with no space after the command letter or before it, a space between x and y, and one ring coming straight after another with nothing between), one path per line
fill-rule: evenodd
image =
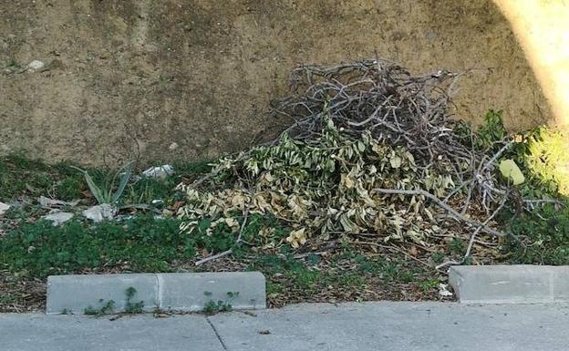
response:
M88 173L87 170L82 170L78 167L71 166L75 170L79 170L85 176L85 181L87 181L87 185L95 199L97 199L99 204L110 204L116 205L119 202L120 196L125 191L127 184L129 183L129 179L132 176L132 165L134 161L129 161L127 164L122 166L113 176L112 181L106 181L101 184L97 184L93 177ZM119 187L117 191L113 191L115 182L119 178Z

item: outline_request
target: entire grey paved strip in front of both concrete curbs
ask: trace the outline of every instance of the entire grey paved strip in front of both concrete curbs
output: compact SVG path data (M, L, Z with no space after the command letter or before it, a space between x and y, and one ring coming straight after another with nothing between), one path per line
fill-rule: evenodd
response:
M2 351L567 350L569 305L295 305L278 310L109 321L0 315Z

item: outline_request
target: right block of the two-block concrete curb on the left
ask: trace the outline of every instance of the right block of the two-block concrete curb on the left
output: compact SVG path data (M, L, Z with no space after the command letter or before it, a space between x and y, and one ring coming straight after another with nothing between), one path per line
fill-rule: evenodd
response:
M259 272L157 275L163 310L202 311L211 301L233 309L266 308L265 279Z

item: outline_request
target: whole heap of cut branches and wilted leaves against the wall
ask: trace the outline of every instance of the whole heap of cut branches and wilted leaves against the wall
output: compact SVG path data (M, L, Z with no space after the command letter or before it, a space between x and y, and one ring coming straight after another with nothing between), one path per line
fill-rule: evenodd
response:
M481 145L450 119L457 77L415 77L380 60L296 68L292 95L274 108L290 128L182 186L182 230L200 231L198 220L210 218L207 230L223 226L247 244L244 224L260 213L291 229L286 237L258 232L253 240L264 250L361 238L429 250L461 238L469 243L466 258L476 243L498 243L507 233L492 220L512 188L496 170L511 141Z

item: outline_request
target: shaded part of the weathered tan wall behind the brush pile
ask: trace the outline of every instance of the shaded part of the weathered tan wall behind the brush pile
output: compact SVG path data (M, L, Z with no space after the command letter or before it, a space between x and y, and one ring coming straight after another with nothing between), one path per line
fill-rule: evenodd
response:
M0 152L100 164L238 150L282 125L264 112L296 64L374 50L416 73L471 69L462 119L503 108L523 129L551 116L490 0L2 3ZM35 59L47 66L26 71Z

